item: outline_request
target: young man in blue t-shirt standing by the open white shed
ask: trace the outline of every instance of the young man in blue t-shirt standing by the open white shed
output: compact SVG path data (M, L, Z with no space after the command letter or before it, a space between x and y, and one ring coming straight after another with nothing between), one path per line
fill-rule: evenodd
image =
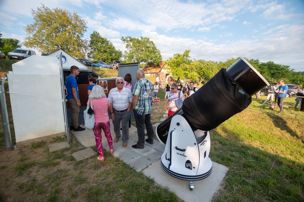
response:
M85 128L81 128L78 125L78 114L79 114L79 107L81 106L79 100L79 93L78 93L78 86L77 80L75 77L79 74L79 68L77 66L71 66L71 74L67 76L65 79L65 86L67 88L67 102L71 105L72 110L72 119L71 119L71 126L70 130L74 131L82 131Z

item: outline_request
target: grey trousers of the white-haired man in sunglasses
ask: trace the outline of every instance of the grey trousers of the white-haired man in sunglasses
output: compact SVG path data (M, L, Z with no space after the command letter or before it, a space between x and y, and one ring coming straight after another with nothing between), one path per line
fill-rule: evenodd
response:
M130 119L130 112L127 111L123 111L123 112L116 112L115 110L113 110L114 112L114 121L112 121L113 123L113 127L114 127L114 133L115 133L115 138L119 139L121 137L120 134L120 122L121 122L121 127L122 127L122 133L123 133L123 137L122 137L122 141L123 143L128 143L129 140L129 119Z

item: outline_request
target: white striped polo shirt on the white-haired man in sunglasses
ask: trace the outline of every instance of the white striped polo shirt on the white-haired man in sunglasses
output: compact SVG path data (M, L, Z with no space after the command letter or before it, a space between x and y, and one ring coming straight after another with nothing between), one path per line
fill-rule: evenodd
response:
M109 101L113 103L113 108L117 111L125 110L128 108L129 103L133 102L133 96L130 89L123 87L121 92L118 92L117 87L112 88L109 92Z

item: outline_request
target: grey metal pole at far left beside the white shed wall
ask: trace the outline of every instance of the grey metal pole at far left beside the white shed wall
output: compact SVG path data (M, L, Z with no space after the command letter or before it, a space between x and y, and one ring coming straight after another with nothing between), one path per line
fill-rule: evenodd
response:
M4 132L5 139L5 148L6 150L12 150L12 137L11 131L9 129L9 115L7 113L6 99L5 99L5 91L4 91L4 82L6 77L2 77L1 85L0 85L0 101L1 101L1 117L2 117L2 127Z

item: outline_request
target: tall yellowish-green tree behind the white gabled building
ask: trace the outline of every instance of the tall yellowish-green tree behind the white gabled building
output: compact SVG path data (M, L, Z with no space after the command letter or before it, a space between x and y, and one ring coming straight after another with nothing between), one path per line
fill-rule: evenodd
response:
M77 13L70 13L61 8L50 9L42 5L32 9L34 22L27 25L25 31L29 36L24 45L50 53L59 48L72 56L84 56L85 41L82 39L87 30L86 22Z

